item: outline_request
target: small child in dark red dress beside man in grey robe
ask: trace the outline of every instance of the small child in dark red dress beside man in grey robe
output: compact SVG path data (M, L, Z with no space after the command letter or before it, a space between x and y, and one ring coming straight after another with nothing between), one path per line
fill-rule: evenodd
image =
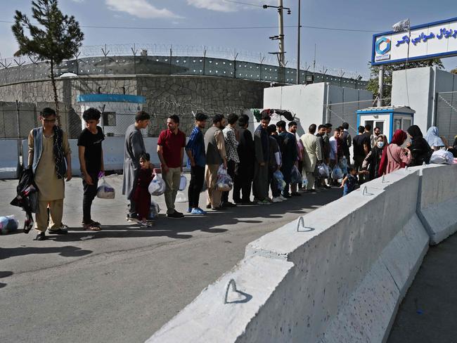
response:
M152 226L153 222L148 220L150 212L149 183L153 181L153 171L150 170L150 155L143 153L140 156L141 169L136 183L134 201L136 202L136 212L138 213L139 224L142 226Z

